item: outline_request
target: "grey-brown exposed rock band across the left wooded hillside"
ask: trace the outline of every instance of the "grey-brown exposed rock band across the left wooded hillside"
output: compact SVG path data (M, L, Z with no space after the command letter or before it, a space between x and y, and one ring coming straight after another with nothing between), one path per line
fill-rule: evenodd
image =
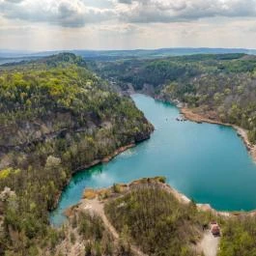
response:
M55 139L70 140L75 134L94 134L100 129L110 130L114 127L115 120L102 120L96 114L91 113L85 117L86 124L79 126L71 112L49 113L48 116L34 121L19 121L13 126L2 127L0 130L0 169L10 165L8 154L10 152L24 153L27 149L35 147L38 144L49 142ZM137 130L126 145L138 143L149 139L154 127L142 118L143 130ZM126 134L126 128L123 128ZM120 128L120 131L122 128ZM122 133L121 132L121 133ZM112 138L105 137L101 139L101 144L112 143ZM108 142L108 143L107 143Z

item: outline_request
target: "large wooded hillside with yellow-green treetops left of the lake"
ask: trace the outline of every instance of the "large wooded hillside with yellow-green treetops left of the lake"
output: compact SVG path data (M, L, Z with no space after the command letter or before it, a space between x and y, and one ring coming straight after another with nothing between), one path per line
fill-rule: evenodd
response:
M0 67L0 130L0 255L34 256L61 239L48 210L71 173L149 138L153 127L64 53Z

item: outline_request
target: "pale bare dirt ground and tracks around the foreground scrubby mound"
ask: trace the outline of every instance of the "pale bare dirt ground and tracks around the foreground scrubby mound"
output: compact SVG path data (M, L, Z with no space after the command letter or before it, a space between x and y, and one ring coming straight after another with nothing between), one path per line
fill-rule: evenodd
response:
M153 178L153 179L142 179L138 181L134 181L128 185L120 185L120 189L122 192L113 192L113 188L102 188L102 189L92 189L87 188L84 192L84 198L80 201L80 203L74 208L75 211L78 212L89 212L92 214L97 214L100 216L104 226L107 228L107 230L112 234L114 238L114 242L118 243L120 242L120 234L116 230L116 228L111 223L110 219L108 218L108 215L106 215L104 211L104 206L107 204L108 200L112 200L115 198L120 198L125 196L129 191L132 191L132 189L135 189L136 186L143 186L147 185L147 183L154 184L160 189L166 191L167 193L172 194L181 204L189 205L191 201L185 197L182 193L178 192L176 189L172 188L170 185L167 185L165 183L159 182L159 177ZM109 192L110 191L110 192ZM108 197L104 198L104 195L108 193ZM103 199L104 198L104 199ZM197 205L197 209L199 212L211 212L213 216L216 217L227 217L229 215L225 215L224 213L218 213L214 211L209 205ZM71 210L72 211L72 210ZM67 211L68 215L72 214L72 212L69 213ZM194 245L191 244L191 247L194 248L194 250L198 253L204 253L206 256L216 256L219 246L219 238L213 237L213 234L210 232L210 230L206 231L200 231L201 239L198 240ZM147 256L141 249L134 245L130 244L131 251L134 255L138 256Z

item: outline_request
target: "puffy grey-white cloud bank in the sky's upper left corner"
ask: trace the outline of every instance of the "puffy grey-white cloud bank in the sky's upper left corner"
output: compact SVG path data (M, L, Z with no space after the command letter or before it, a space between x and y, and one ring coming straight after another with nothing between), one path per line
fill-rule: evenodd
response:
M12 1L12 3L11 3ZM115 15L113 9L93 7L82 0L17 0L0 2L0 14L9 19L47 22L64 27L81 27L87 23L109 20ZM86 3L88 5L86 5Z

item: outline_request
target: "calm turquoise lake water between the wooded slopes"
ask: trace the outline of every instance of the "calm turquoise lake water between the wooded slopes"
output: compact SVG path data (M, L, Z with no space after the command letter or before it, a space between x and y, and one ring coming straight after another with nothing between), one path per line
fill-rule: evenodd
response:
M256 209L256 165L233 128L177 122L176 106L143 95L132 98L156 128L151 139L77 173L50 215L53 224L63 223L63 211L78 203L85 187L155 176L165 176L189 198L217 210Z

